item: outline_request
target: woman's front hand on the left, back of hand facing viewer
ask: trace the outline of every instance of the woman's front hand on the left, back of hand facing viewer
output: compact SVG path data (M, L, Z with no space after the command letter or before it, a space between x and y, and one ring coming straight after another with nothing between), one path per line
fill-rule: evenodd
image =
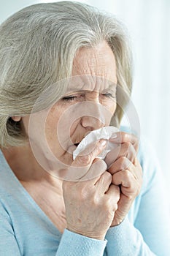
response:
M85 176L78 181L63 181L67 229L100 240L104 240L120 198L119 187L112 184L106 163L96 159L106 146L102 142L98 141L90 154L78 155L72 162L70 171L85 167L88 170ZM97 176L97 173L101 174Z

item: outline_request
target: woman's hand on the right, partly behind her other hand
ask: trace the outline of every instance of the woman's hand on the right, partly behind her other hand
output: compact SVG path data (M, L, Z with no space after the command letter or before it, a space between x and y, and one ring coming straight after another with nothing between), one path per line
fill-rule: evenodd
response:
M139 143L134 135L117 132L113 143L119 144L107 154L105 162L112 174L112 184L120 187L120 200L112 225L119 225L128 214L131 204L142 187L142 167L136 158ZM116 157L115 157L116 155Z

